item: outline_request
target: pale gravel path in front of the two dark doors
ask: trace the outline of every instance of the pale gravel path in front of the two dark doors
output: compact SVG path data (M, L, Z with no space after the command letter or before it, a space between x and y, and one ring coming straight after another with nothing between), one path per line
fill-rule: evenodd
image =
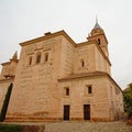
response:
M124 122L61 122L47 123L45 132L132 132Z

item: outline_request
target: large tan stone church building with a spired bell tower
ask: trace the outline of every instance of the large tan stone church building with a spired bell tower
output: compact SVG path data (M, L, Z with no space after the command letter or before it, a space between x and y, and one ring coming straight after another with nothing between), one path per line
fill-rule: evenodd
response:
M120 86L111 77L108 40L96 22L86 42L65 31L21 45L0 75L0 110L12 82L4 121L114 121L122 117Z

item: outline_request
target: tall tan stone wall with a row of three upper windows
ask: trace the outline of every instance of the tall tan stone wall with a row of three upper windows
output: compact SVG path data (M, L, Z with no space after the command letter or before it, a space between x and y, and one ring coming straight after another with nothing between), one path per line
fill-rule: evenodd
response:
M56 78L61 59L59 47L59 37L22 47L11 102L8 109L9 118L33 118L33 116L46 118L51 111L56 110L57 107L53 107L53 103L57 103L54 95L57 89ZM38 64L36 64L37 53L41 53L41 62ZM45 53L48 54L47 61L44 58ZM30 56L32 56L32 63L29 65Z

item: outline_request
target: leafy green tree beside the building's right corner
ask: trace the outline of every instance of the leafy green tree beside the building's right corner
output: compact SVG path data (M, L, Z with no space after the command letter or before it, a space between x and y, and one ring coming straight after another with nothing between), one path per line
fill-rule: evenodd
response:
M123 91L124 111L132 118L132 84Z

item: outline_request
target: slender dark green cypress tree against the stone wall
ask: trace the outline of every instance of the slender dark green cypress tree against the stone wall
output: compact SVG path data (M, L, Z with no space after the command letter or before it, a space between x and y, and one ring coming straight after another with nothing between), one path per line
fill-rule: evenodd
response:
M8 88L8 91L7 91L4 101L3 101L3 106L2 106L2 110L0 113L0 122L4 121L4 119L6 119L6 113L8 110L8 105L9 105L9 100L10 100L10 96L11 96L11 91L12 91L12 86L13 86L13 84L11 84Z

